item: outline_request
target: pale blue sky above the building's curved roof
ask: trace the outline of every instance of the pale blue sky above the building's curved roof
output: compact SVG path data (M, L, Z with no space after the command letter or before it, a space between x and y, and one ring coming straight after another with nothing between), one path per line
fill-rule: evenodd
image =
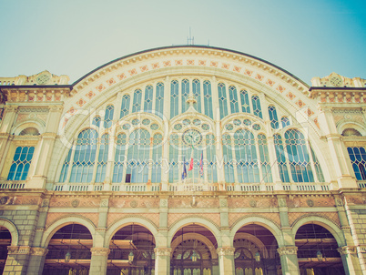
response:
M312 76L366 78L366 1L0 0L0 76L45 69L70 84L113 59L187 44L265 59Z

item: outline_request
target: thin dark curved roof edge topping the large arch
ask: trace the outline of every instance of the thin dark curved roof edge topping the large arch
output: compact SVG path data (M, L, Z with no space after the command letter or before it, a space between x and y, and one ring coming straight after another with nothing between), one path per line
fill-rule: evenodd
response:
M76 86L76 84L78 82L80 82L82 79L86 78L86 76L90 76L92 75L93 73L97 72L98 70L100 70L101 68L105 67L105 66L108 66L108 65L111 65L119 60L122 60L122 59L125 59L127 57L131 57L131 56L137 56L137 55L141 55L141 54L144 54L144 53L148 53L148 52L152 52L152 51L158 51L158 50L164 50L164 49L170 49L170 48L183 48L183 47L193 47L193 48L206 48L206 49L214 49L214 50L219 50L219 51L227 51L227 52L231 52L233 54L238 54L238 55L242 55L242 56L248 56L248 57L251 57L251 58L254 58L254 59L257 59L261 62L264 62L270 66L273 66L273 67L276 67L277 69L280 69L282 72L284 72L285 74L295 78L296 80L300 81L302 85L304 85L305 87L310 87L308 84L306 84L304 81L302 81L298 76L294 76L293 74L291 74L289 71L281 68L280 66L277 66L277 65L274 65L273 63L270 63L269 61L267 60L264 60L264 59L261 59L257 56L251 56L251 55L248 55L248 54L245 54L245 53L242 53L242 52L239 52L239 51L234 51L234 50L231 50L231 49L227 49L227 48L223 48L223 47L218 47L218 46L199 46L199 45L178 45L178 46L159 46L159 47L155 47L155 48L150 48L150 49L147 49L147 50L143 50L143 51L139 51L139 52L136 52L136 53L133 53L133 54L129 54L127 56L122 56L122 57L119 57L117 59L114 59L112 61L109 61L107 62L106 64L102 65L102 66L98 66L97 68L95 68L94 70L90 71L89 73L87 73L86 75L84 76L81 76L80 78L78 78L71 86L74 87Z

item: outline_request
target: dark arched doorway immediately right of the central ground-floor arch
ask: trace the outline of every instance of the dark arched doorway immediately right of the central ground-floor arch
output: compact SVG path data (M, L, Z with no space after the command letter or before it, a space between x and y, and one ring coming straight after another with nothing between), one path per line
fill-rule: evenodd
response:
M236 275L276 275L280 270L279 246L269 229L257 224L241 227L234 248Z

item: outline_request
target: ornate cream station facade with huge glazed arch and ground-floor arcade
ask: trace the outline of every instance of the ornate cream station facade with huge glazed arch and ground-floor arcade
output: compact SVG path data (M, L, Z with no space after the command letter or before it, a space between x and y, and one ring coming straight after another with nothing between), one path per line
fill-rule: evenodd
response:
M3 274L366 274L366 80L168 46L0 77Z

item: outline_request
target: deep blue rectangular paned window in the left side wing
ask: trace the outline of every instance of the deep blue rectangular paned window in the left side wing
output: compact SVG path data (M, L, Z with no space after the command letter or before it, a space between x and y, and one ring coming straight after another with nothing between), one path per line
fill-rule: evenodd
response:
M35 152L34 147L17 147L7 180L25 180Z

